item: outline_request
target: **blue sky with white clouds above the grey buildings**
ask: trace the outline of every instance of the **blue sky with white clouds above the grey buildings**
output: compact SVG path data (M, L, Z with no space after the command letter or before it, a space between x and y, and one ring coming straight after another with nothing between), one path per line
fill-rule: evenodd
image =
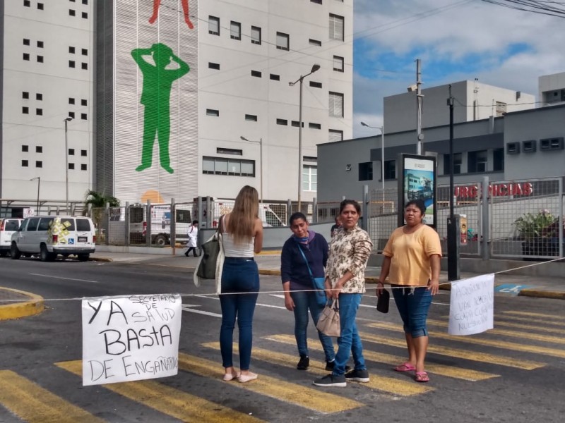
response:
M481 0L354 0L353 136L383 124L383 97L474 80L537 96L540 75L565 71L565 19ZM559 36L559 34L561 34Z

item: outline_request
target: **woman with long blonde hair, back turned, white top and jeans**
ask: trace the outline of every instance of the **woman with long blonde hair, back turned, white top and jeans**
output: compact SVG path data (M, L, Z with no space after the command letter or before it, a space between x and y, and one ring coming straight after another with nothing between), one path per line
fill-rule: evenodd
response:
M254 253L263 247L263 224L258 218L257 190L245 185L235 199L231 213L220 218L224 265L221 273L222 326L220 351L225 368L224 381L237 379L248 382L257 379L249 371L253 342L253 314L259 290L259 272ZM239 369L233 365L233 334L235 321L239 328Z

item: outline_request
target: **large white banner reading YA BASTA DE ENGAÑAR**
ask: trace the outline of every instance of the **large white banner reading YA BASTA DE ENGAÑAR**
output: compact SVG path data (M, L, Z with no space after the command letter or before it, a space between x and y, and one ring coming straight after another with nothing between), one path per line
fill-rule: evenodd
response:
M178 373L179 294L83 300L83 386Z

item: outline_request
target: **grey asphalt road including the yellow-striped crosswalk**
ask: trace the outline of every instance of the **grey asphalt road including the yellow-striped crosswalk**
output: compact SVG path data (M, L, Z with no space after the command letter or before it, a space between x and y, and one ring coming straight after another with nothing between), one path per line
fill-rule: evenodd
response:
M404 356L398 313L378 314L366 295L358 323L371 381L323 389L311 385L326 373L314 329L311 368L299 372L292 315L269 293L280 290L279 278L261 276L252 362L259 379L225 383L218 298L207 295L210 285L195 288L182 264L1 261L2 285L42 295L47 308L0 321L0 422L562 421L562 300L496 295L494 331L454 338L446 335L448 294L441 293L429 320L432 381L417 384L391 370ZM184 295L179 374L83 387L76 298L172 292Z

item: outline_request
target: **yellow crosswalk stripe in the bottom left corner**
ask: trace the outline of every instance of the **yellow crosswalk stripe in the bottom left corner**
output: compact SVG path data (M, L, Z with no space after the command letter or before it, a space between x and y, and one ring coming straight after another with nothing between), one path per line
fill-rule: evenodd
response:
M0 370L0 404L28 423L104 422L11 370Z

